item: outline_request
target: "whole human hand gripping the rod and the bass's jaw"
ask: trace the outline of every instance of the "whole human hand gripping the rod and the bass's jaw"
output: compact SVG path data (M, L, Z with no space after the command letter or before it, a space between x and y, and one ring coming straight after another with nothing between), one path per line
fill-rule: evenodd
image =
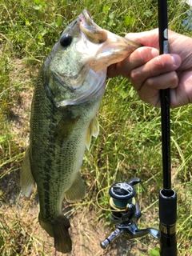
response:
M160 106L159 90L170 88L170 107L192 103L192 38L169 30L169 53L159 55L158 29L127 34L142 43L122 62L108 67L107 75L129 78L139 97Z

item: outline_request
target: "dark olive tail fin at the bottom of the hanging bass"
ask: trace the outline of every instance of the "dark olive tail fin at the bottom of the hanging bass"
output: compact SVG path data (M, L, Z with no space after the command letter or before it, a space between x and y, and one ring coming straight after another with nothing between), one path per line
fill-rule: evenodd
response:
M70 228L69 220L62 215L50 223L43 220L39 213L38 221L42 228L46 230L51 237L54 237L55 249L62 252L62 254L70 253L72 250L72 242L68 231Z

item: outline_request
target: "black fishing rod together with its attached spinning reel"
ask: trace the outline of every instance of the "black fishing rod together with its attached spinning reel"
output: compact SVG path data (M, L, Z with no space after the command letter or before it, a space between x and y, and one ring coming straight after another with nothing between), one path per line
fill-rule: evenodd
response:
M168 18L167 1L158 0L159 54L168 54ZM157 238L161 256L177 256L176 220L177 195L171 189L170 162L170 89L160 90L162 122L162 178L163 188L158 194L159 230L154 228L139 229L138 219L142 216L136 202L134 186L140 178L131 178L127 182L118 182L110 186L111 222L116 226L100 245L106 249L118 236L127 240L146 234Z

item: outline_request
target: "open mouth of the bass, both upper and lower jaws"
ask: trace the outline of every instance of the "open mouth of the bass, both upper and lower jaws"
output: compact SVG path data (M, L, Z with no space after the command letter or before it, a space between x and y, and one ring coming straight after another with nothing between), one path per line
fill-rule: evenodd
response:
M142 46L138 42L123 38L108 30L103 30L90 18L87 10L83 10L82 14L79 15L78 23L87 40L92 42L95 47L98 46L93 61L90 61L90 68L95 72L106 69L107 66L116 62L121 62L134 50Z

